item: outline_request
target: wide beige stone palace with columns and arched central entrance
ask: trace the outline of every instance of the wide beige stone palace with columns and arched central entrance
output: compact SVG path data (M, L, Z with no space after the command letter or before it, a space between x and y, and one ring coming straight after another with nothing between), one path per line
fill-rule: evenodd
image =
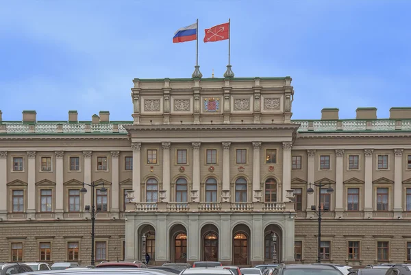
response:
M133 82L132 121L0 111L0 261L89 264L93 204L97 263L411 261L411 108L296 121L290 77Z

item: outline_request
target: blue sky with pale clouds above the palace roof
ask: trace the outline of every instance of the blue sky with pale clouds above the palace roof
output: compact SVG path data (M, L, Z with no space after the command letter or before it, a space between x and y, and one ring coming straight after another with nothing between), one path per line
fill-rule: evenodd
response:
M411 1L403 0L9 0L0 6L3 120L89 120L110 110L132 120L132 79L190 77L195 42L172 43L179 27L232 21L236 77L290 75L292 119L324 107L355 118L357 107L411 106ZM201 41L200 40L200 41ZM203 77L221 77L227 40L199 43Z

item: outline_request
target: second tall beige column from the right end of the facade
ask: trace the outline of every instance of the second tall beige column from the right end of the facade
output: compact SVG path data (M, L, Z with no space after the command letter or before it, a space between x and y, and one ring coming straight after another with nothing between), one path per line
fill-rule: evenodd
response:
M373 149L364 150L364 219L368 219L368 217L373 217L373 152Z

